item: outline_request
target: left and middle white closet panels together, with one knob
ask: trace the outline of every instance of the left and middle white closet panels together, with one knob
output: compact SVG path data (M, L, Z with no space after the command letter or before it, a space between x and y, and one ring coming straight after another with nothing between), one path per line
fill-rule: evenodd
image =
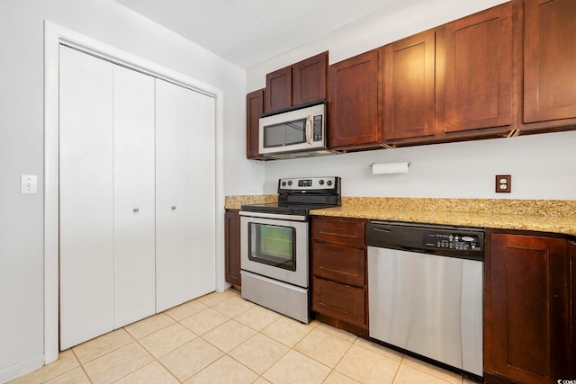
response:
M60 49L60 344L155 313L154 78Z

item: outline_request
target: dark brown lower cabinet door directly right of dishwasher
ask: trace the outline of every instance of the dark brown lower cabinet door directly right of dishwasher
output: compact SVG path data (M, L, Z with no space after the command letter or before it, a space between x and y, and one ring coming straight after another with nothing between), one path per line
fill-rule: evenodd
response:
M555 383L569 374L567 242L491 234L486 281L486 371L519 382ZM490 351L490 350L489 350Z

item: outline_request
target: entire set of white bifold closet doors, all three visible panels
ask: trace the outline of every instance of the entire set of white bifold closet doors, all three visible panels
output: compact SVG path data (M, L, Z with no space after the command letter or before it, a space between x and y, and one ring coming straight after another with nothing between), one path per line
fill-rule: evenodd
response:
M60 47L60 348L215 289L214 99Z

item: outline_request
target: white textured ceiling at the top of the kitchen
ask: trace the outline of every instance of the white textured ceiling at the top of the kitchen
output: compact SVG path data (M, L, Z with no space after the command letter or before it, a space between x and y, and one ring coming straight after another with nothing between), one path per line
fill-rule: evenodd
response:
M240 67L415 0L116 0ZM424 2L427 0L416 0Z

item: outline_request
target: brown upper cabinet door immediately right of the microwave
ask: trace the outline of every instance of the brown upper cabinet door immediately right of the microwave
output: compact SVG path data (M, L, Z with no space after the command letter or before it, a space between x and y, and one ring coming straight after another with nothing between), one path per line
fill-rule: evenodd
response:
M382 146L378 50L329 67L329 147L355 149Z

